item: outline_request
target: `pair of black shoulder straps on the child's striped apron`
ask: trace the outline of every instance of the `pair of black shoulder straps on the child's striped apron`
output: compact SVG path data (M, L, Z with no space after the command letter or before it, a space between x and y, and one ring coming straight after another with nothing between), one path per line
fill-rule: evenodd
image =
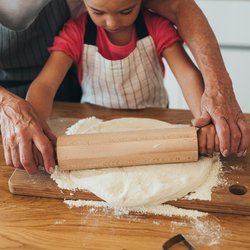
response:
M135 30L138 36L138 40L143 39L149 35L142 11L139 12L138 17L135 20ZM96 25L88 15L85 35L84 35L84 44L96 45L96 34L97 34Z

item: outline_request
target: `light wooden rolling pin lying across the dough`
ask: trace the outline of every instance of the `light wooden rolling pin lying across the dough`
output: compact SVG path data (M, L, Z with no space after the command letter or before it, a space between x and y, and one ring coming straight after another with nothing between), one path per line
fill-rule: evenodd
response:
M60 170L97 169L198 160L194 127L62 135Z

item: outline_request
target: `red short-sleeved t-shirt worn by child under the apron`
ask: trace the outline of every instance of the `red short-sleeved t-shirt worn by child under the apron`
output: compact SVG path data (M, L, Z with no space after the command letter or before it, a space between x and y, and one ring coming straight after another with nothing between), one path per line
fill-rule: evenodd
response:
M144 20L149 35L152 37L157 55L162 64L162 51L174 42L181 41L178 32L171 22L147 10L143 11ZM82 14L77 19L69 20L63 27L59 36L55 37L54 44L49 51L63 51L70 56L78 68L78 77L82 80L82 55L84 48L84 35L87 13ZM99 53L109 60L121 60L136 48L136 31L133 29L131 41L123 46L114 45L110 42L105 30L97 27L96 46Z

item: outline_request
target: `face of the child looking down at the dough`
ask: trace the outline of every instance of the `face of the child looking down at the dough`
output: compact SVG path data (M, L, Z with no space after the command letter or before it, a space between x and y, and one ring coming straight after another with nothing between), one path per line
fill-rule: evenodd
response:
M130 28L140 11L142 0L84 0L93 22L107 32Z

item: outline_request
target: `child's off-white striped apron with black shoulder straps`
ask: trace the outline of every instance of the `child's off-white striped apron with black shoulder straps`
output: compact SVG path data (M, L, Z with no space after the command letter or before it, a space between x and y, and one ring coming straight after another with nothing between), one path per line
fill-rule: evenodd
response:
M135 22L136 48L128 57L114 61L98 52L96 26L89 17L87 20L81 102L114 109L167 107L163 72L143 14Z

